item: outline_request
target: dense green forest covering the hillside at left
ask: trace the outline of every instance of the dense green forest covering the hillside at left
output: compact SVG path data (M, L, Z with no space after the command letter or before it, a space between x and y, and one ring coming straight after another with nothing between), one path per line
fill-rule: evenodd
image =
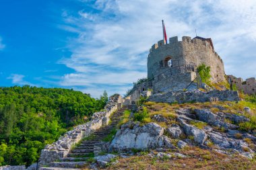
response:
M100 99L72 89L0 87L0 166L30 165L46 144L104 108Z

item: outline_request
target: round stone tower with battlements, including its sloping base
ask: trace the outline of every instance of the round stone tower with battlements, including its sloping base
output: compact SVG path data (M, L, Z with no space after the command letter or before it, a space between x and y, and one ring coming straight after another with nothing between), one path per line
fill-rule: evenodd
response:
M169 44L160 40L148 55L148 87L154 93L185 89L196 77L196 69L205 64L211 68L211 81L225 81L223 61L215 52L211 38L172 37Z

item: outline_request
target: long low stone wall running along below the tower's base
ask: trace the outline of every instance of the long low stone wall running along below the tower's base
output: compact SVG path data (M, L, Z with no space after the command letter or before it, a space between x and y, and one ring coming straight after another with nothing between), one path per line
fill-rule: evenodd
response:
M237 91L169 91L167 93L158 93L151 95L148 101L163 103L186 103L186 102L205 102L205 101L239 101Z

